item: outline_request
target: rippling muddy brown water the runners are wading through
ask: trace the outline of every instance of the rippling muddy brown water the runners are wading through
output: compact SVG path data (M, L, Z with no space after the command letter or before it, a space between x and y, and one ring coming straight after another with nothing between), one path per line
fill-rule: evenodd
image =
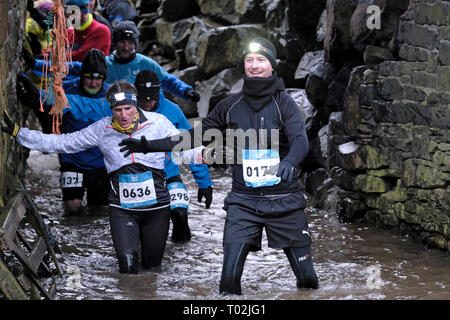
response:
M62 250L58 299L224 299L218 286L230 172L211 172L208 210L197 203L192 175L184 174L192 240L180 245L169 239L158 270L121 275L107 217L62 217L57 157L32 151L28 164L26 188ZM309 208L307 214L320 288L297 290L284 253L268 248L264 235L263 250L247 258L243 296L225 299L450 299L447 253L372 226L343 224L327 212Z

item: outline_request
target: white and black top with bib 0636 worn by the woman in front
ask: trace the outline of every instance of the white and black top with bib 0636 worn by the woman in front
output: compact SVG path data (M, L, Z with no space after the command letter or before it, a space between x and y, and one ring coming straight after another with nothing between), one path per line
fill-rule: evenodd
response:
M126 210L147 211L166 207L170 203L164 174L164 152L133 153L124 157L119 143L124 138L161 139L179 131L163 115L139 110L140 120L133 134L115 130L112 117L105 117L76 132L56 135L21 128L17 141L24 147L50 153L75 153L97 147L104 155L110 176L110 205ZM185 163L198 163L202 148L184 151L179 155Z

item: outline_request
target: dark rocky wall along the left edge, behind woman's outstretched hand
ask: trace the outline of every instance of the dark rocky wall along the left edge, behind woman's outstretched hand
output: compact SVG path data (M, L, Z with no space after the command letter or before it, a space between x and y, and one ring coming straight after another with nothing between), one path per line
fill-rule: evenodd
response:
M0 114L6 109L14 121L23 124L23 112L16 100L16 74L22 71L20 49L25 33L25 0L0 1ZM6 135L0 135L0 209L14 191L15 175L23 176L28 155Z

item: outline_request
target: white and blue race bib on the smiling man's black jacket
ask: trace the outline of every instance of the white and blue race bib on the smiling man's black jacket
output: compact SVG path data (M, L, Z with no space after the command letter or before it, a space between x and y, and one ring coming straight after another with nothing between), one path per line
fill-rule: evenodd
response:
M251 188L269 187L280 183L276 176L280 155L277 150L242 150L242 170L245 185Z

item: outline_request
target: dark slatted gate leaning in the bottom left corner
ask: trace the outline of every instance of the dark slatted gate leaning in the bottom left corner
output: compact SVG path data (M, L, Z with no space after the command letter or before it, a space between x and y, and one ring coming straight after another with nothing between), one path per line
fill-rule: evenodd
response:
M55 240L26 191L0 215L0 291L6 299L53 299L62 274Z

